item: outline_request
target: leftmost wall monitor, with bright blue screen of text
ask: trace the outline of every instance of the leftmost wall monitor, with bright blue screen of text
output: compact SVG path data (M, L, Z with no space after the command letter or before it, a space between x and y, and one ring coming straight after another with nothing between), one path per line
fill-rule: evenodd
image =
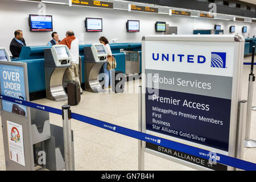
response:
M30 31L42 32L53 31L52 15L30 15L29 16Z

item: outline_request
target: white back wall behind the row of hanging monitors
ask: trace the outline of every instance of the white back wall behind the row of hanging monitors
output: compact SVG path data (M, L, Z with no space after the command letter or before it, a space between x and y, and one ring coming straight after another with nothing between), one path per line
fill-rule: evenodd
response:
M23 31L27 46L44 46L51 40L52 32L30 32L28 15L38 14L38 3L19 1L0 1L1 36L0 47L9 49L14 31ZM209 18L193 18L177 15L163 15L151 13L128 12L121 10L97 9L90 7L64 6L46 4L46 14L53 17L53 31L58 32L60 39L65 37L67 30L84 35L84 43L98 42L100 36L110 40L118 38L119 42L141 42L143 35L161 35L155 32L155 22L163 21L169 26L177 26L177 34L193 34L195 29L214 29L214 24L220 24L224 34L229 33L229 27L236 26L233 34L242 34L242 27L247 26L247 33L243 36L252 37L256 34L256 23L233 22ZM86 32L85 18L102 18L102 32ZM140 32L127 32L127 20L140 20ZM110 42L111 43L111 42Z

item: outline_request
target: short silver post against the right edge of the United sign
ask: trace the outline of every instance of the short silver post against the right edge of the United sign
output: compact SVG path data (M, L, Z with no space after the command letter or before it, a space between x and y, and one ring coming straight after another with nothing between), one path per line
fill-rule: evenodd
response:
M247 101L240 101L239 104L239 120L237 124L237 148L236 148L236 158L243 160L243 147L245 147L245 127L246 127L246 105ZM236 168L236 170L240 170Z

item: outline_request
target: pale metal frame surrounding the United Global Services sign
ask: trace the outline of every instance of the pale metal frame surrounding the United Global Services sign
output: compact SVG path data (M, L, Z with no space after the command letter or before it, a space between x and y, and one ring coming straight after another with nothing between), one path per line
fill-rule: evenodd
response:
M238 131L238 109L239 109L239 103L241 101L241 74L242 74L242 59L243 59L243 49L244 44L243 42L245 39L241 35L148 35L143 36L142 38L142 76L145 76L145 63L146 63L146 52L145 52L145 46L147 41L161 41L161 42L167 42L167 41L178 41L178 42L222 42L222 43L232 43L234 46L234 64L233 64L233 75L232 75L232 95L231 95L231 108L230 108L230 127L229 127L229 147L228 152L221 152L221 150L217 150L218 153L229 155L232 157L236 157L236 154L241 152L243 148L236 148L237 147L237 131ZM146 130L146 78L142 77L142 113L141 113L141 126L139 124L139 129L141 128L141 131L143 133L148 133L152 135L158 135L159 137L170 139L168 135L155 133L154 131ZM140 115L140 114L139 114ZM186 140L183 139L172 139L176 142L180 143L186 143ZM141 142L141 143L140 143ZM197 145L196 143L188 142L187 144L191 146L195 146L198 148L204 148L205 150L213 151L215 148ZM141 146L140 146L141 145ZM141 147L141 150L140 150ZM199 166L197 164L193 164L190 162L186 162L185 160L181 160L178 158L174 158L172 156L168 156L166 154L162 154L158 151L151 150L146 147L146 142L139 141L139 169L144 169L144 154L143 152L148 152L150 154L160 156L161 158L165 158L168 160L172 160L174 162L183 164L188 167L192 167L195 169L201 169L201 170L210 170L209 168ZM234 170L233 167L228 166L228 170Z

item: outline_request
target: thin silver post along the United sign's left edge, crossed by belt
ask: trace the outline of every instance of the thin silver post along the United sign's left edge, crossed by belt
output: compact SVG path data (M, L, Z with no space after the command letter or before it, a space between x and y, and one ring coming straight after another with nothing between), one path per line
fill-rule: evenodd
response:
M142 87L139 86L139 131L142 132ZM144 150L142 140L138 140L138 170L144 171Z

